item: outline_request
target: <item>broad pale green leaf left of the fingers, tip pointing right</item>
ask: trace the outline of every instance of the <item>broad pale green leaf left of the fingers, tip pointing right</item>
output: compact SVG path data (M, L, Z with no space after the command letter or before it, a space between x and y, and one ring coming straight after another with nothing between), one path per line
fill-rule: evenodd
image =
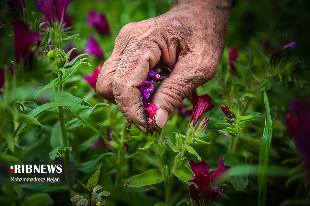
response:
M71 107L75 107L75 108L79 108L79 109L91 108L91 109L95 110L94 107L91 106L90 103L88 103L85 100L80 99L76 96L73 96L68 92L63 92L61 95L56 96L55 100L57 102L63 104L63 105L68 106L68 107L71 106Z

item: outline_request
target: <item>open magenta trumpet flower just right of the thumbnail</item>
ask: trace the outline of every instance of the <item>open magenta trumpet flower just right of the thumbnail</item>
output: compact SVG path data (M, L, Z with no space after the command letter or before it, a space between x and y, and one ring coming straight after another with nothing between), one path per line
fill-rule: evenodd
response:
M195 127L197 121L203 115L203 113L210 111L211 109L215 107L215 105L210 103L211 98L207 94L198 96L195 93L192 93L191 101L193 103L193 113L192 113L190 125Z

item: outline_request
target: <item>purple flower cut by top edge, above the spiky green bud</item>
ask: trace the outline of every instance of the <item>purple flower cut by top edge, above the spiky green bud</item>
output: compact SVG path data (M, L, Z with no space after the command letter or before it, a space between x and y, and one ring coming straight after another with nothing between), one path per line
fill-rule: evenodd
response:
M56 19L62 24L67 6L70 3L71 0L41 0L36 6L52 25Z

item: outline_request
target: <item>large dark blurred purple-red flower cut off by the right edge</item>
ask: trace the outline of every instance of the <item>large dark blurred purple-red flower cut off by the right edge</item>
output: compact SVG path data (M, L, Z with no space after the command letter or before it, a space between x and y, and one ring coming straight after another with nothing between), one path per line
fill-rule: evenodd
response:
M310 100L293 100L289 109L292 113L286 116L286 125L310 171Z

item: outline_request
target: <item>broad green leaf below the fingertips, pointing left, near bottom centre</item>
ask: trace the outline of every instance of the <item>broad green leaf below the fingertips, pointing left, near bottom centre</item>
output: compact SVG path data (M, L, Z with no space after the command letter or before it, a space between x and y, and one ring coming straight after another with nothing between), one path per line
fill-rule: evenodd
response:
M132 176L124 184L124 187L142 187L146 185L158 184L164 181L162 172L157 169L148 170L142 174Z

